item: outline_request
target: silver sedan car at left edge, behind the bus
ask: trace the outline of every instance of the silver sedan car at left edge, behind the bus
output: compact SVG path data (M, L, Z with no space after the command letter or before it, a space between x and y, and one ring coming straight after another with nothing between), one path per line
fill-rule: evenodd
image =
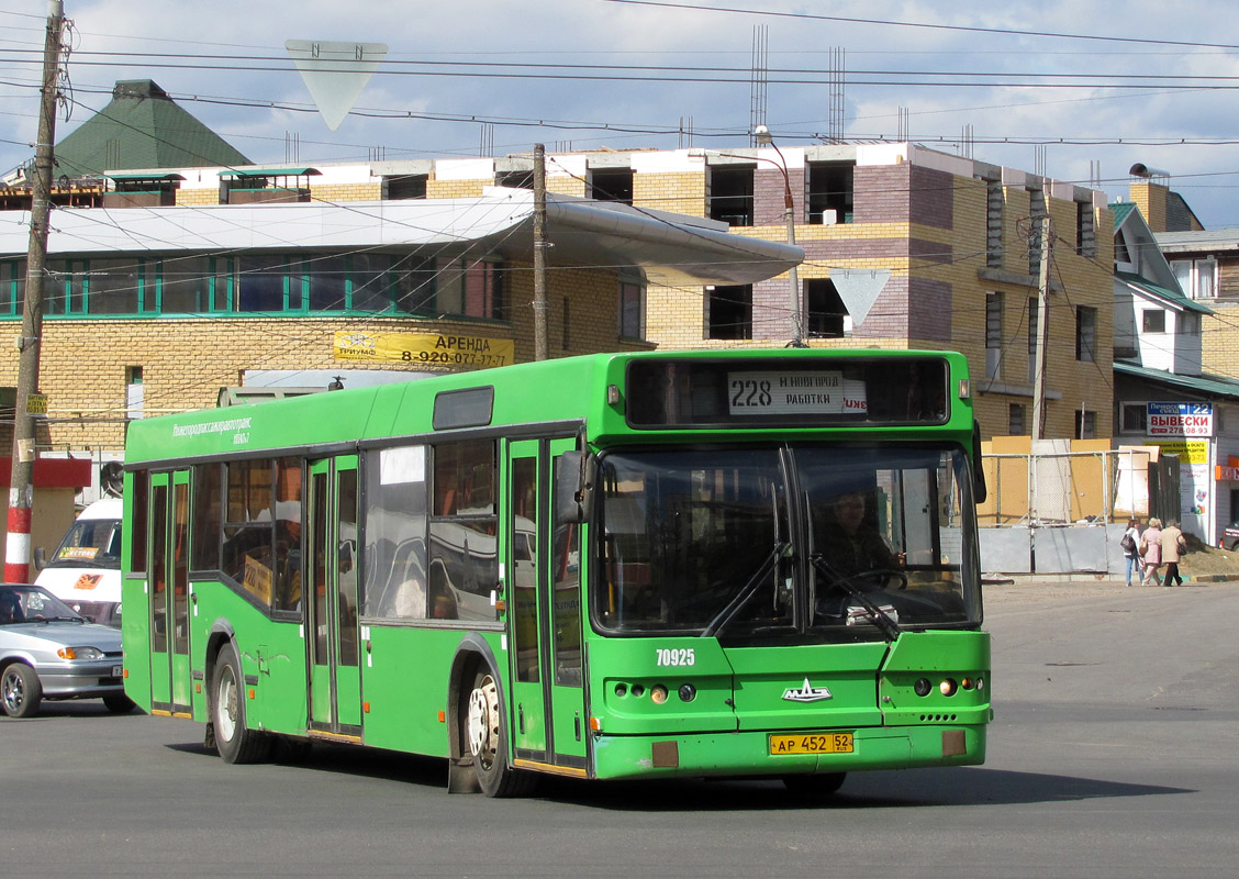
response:
M40 586L0 584L0 708L38 713L43 699L103 699L133 710L125 696L120 630L97 626Z

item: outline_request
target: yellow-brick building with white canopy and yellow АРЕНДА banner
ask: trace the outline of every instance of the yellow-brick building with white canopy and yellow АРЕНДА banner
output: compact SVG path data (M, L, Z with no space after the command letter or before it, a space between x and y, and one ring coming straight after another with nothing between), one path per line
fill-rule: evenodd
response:
M108 460L129 419L213 407L228 389L358 387L534 358L532 192L375 200L404 181L366 187L315 171L213 170L213 203L201 187L181 188L195 169L113 174L103 206L53 216L45 454ZM304 181L320 179L330 196L313 190L311 201ZM546 213L556 357L653 347L642 329L650 283L755 283L802 255L725 223L626 205L553 196ZM17 332L28 214L9 216L0 321ZM10 410L17 356L0 350Z

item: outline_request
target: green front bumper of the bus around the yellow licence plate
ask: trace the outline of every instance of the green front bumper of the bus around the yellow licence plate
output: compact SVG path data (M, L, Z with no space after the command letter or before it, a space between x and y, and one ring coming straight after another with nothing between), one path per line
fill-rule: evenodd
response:
M841 754L772 754L771 733L606 735L593 740L595 777L779 776L985 761L985 725L862 728ZM834 731L834 730L830 730ZM807 733L808 734L808 733Z

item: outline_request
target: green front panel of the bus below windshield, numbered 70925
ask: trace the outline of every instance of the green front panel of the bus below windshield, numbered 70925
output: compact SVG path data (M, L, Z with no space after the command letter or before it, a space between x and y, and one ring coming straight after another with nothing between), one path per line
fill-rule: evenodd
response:
M727 648L714 638L595 638L590 668L592 715L601 727L593 740L600 779L836 772L985 759L984 632L904 632L895 645ZM918 694L922 678L929 688ZM851 736L850 751L786 753L772 740L835 733Z

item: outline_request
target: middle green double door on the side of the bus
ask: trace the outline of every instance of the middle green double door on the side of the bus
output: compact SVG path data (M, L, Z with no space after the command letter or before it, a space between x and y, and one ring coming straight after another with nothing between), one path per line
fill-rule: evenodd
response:
M362 733L357 650L357 456L310 465L310 526L302 581L310 583L310 729L356 738Z

